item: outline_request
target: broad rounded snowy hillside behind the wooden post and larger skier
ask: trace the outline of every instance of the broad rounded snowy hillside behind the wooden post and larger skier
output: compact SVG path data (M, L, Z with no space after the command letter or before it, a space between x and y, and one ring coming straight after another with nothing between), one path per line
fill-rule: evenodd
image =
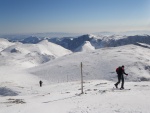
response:
M49 82L80 80L80 63L83 63L85 80L116 79L115 69L125 65L127 80L150 80L150 50L136 45L98 49L74 53L50 61L30 71Z

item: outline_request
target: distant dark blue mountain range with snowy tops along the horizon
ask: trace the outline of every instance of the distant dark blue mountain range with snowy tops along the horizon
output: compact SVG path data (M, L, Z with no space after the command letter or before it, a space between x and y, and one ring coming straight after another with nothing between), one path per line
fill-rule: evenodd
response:
M76 37L59 37L59 38L50 38L50 37L36 37L30 36L25 39L9 39L12 42L21 42L27 44L37 44L42 40L48 40L49 42L58 44L66 49L69 49L73 52L80 48L86 41L89 41L95 49L103 47L116 47L128 44L145 43L150 44L149 35L92 35L86 34Z

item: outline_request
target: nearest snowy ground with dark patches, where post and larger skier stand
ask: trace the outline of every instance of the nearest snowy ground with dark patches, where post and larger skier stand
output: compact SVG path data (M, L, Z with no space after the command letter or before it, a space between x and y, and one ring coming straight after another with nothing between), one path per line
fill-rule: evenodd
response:
M131 90L114 90L110 81L22 87L22 95L2 96L1 113L149 113L149 82L127 82ZM17 88L16 88L17 89Z

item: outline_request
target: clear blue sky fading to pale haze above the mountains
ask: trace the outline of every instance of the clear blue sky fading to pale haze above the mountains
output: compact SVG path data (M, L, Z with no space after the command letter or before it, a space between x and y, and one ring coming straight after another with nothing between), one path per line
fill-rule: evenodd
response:
M150 0L0 0L0 33L150 30Z

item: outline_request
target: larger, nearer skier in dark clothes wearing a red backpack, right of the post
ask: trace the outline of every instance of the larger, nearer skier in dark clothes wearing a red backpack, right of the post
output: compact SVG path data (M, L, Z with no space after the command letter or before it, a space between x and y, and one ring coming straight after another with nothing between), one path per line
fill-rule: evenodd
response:
M118 74L118 82L115 85L116 88L118 88L118 84L120 83L120 81L122 80L122 84L121 84L121 88L120 89L124 89L124 75L128 75L127 73L125 73L124 70L124 66L120 66L116 69L116 72Z

